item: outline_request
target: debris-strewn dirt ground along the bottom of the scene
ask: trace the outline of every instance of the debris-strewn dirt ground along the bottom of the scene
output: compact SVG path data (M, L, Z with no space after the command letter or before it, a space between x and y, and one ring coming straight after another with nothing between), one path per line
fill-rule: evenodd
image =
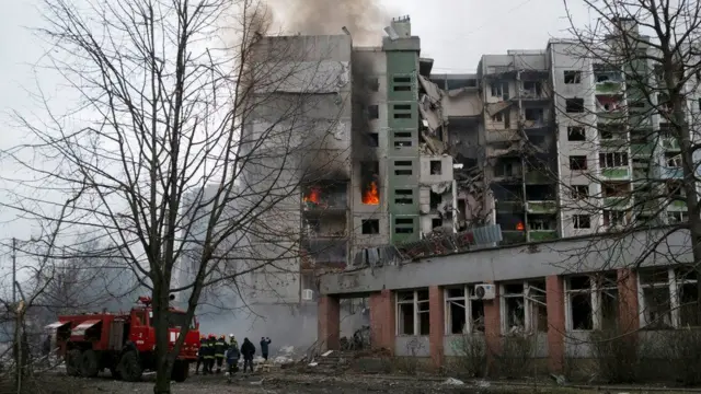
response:
M0 382L9 383L9 382ZM0 394L9 393L5 384L0 384ZM3 390L5 389L5 390ZM147 394L153 392L152 375L146 376L143 382L127 383L114 381L108 376L97 379L69 378L62 373L45 375L27 381L23 390L27 394ZM250 376L238 376L227 383L223 375L193 375L184 383L173 383L173 394L361 394L361 393L392 393L392 394L476 394L476 393L554 393L554 394L588 394L601 393L600 390L579 390L558 387L552 384L530 386L509 386L508 384L479 384L464 382L462 385L447 384L445 379L416 379L390 375L324 375L273 372ZM628 393L630 390L607 390L611 394ZM635 393L645 391L635 390ZM655 390L655 394L663 391Z

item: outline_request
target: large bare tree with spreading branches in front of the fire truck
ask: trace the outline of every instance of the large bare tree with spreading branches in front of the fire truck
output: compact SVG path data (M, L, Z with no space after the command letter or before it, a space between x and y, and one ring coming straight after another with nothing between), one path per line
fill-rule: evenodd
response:
M171 294L187 294L192 321L209 287L298 270L298 189L347 154L329 154L325 141L343 139L334 113L349 70L267 39L268 13L255 0L45 0L44 12L50 68L80 100L58 115L42 95L47 116L18 114L37 142L5 157L42 178L23 183L24 200L84 185L66 222L105 232L151 290L154 392L169 393L188 329L166 350ZM185 254L194 276L175 285Z

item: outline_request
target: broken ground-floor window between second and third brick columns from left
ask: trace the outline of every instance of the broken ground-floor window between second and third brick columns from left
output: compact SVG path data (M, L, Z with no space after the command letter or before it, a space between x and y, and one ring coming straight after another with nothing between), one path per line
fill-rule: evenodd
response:
M397 334L428 335L428 290L397 292Z

